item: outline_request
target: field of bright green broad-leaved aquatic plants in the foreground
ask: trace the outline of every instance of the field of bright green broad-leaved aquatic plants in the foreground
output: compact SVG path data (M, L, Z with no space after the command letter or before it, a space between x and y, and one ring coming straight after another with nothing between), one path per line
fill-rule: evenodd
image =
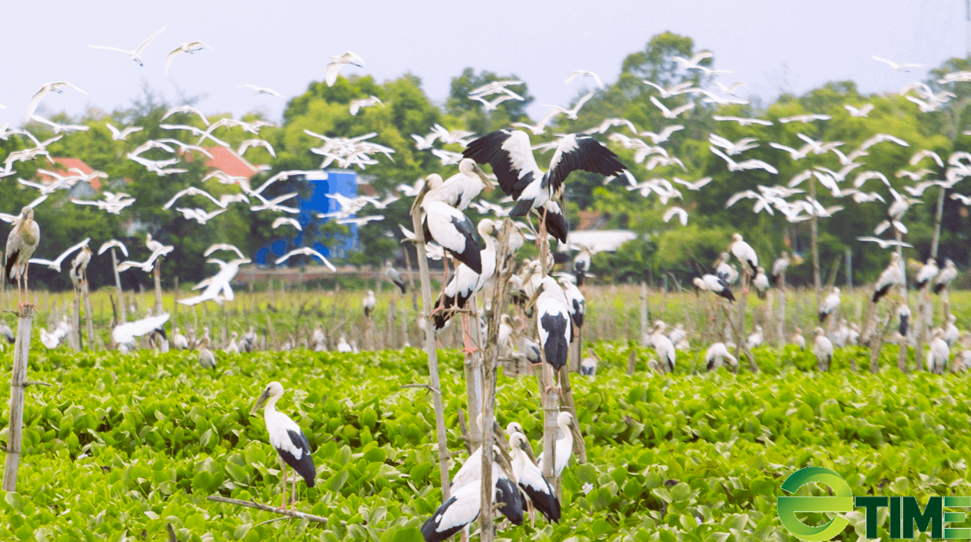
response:
M686 363L663 377L645 370L639 347L596 349L596 378L573 378L588 462L565 470L561 523L500 524L500 538L789 539L775 497L807 465L836 470L854 494L888 487L922 502L971 492L965 377L900 373L890 347L877 375L845 370L862 349L819 374L810 354L788 347L756 349L756 374L692 374ZM464 389L457 354L442 354L454 471L465 457ZM0 539L167 540L171 524L180 541L417 540L441 502L434 418L423 389L401 386L426 372L413 349L228 356L215 372L188 353L34 353L28 378L54 386L28 389L18 491L0 499ZM279 407L317 464L318 486L298 484L298 507L325 526L206 500L279 503L276 453L262 416L249 416L271 380L284 384ZM500 373L498 385L498 420L519 421L539 448L536 380ZM862 535L862 516L851 519L845 539Z

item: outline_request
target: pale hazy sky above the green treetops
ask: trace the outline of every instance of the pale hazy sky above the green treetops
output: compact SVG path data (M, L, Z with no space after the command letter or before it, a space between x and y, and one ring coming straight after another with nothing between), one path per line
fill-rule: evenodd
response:
M72 115L88 107L112 111L141 94L143 82L170 102L205 94L197 107L210 114L254 110L279 120L285 100L254 95L237 85L274 88L286 98L322 80L328 56L352 50L383 81L411 72L436 101L467 66L516 73L540 104L567 105L583 82L573 70L617 79L624 56L659 32L694 39L715 52L716 67L747 82L740 94L775 98L781 85L797 93L828 80L855 80L863 92L894 91L924 78L926 69L965 54L964 1L881 2L492 2L304 1L64 1L8 2L2 9L0 124L22 122L30 97L46 81L68 80L88 92L50 94L42 114ZM145 67L117 51L134 49L163 25L146 49ZM168 51L203 41L215 50L181 54L163 75ZM894 73L871 58L917 63ZM784 68L785 67L785 68Z

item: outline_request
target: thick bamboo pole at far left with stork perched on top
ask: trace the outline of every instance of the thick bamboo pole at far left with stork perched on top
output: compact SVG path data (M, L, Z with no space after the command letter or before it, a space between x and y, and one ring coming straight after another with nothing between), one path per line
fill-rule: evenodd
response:
M10 427L7 433L7 459L3 469L5 492L17 491L17 469L23 441L23 402L27 389L27 361L30 356L30 331L33 324L31 307L21 307L17 318L14 365L10 376Z

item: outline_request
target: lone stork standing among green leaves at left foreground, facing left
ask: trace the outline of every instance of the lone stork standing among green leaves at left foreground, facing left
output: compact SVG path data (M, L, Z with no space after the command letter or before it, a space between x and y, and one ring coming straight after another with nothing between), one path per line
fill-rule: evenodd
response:
M256 399L250 415L256 413L259 407L266 403L263 409L263 419L266 421L266 430L270 433L270 444L277 449L280 454L281 462L284 467L284 503L280 505L286 508L286 465L293 467L297 474L303 476L308 488L314 487L314 480L317 477L317 470L314 467L314 458L310 453L310 442L304 435L300 426L296 425L289 416L277 410L277 400L284 395L284 387L280 382L270 382L263 393ZM297 479L293 477L292 489L290 492L290 510L294 509L296 500Z

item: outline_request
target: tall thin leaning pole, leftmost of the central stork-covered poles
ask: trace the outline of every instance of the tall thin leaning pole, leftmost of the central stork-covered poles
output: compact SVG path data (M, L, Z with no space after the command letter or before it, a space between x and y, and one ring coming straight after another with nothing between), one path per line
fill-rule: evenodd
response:
M431 321L431 278L428 274L428 258L425 257L424 231L421 228L421 200L428 191L428 185L422 188L412 204L412 227L415 230L415 249L419 259L419 275L421 279L421 318L424 323L425 354L428 356L428 377L431 385L432 401L435 405L435 432L438 438L438 466L442 480L442 501L446 501L450 491L449 481L449 443L445 432L445 407L442 404L442 383L438 376L438 351L435 349L435 325Z

